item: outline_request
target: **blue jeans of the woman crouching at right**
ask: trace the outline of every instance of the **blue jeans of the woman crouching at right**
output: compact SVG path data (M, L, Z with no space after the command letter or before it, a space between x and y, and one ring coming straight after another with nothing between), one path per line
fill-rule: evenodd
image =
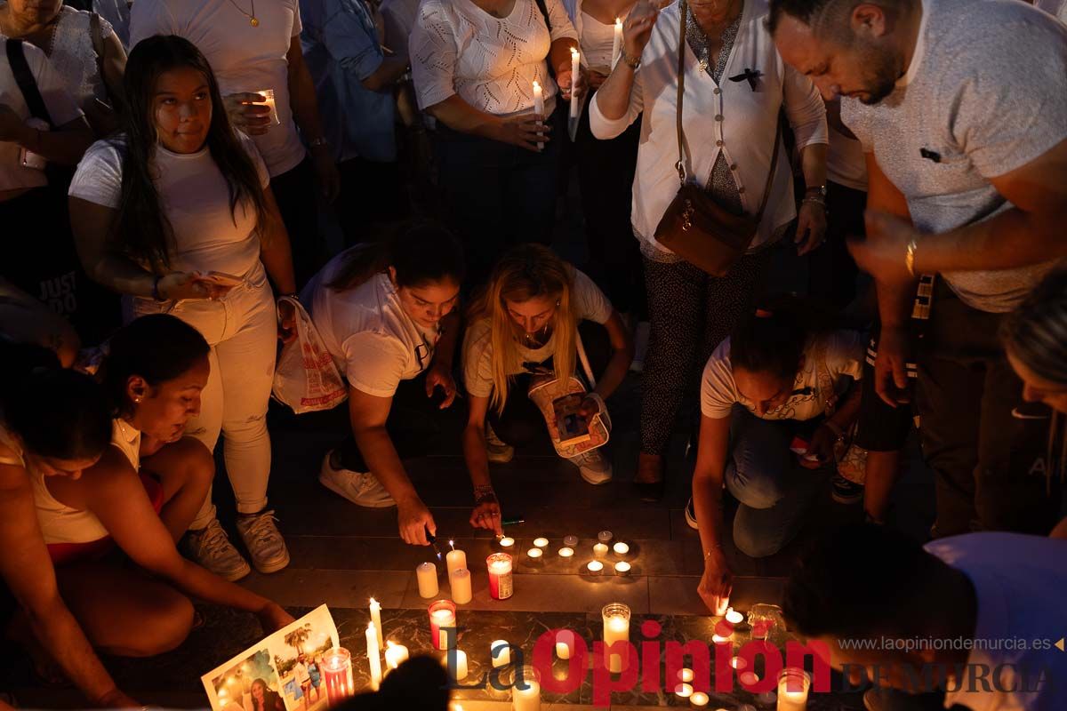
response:
M790 451L797 434L807 436L813 423L763 420L739 405L730 423L732 452L726 483L740 506L734 517L737 549L751 558L780 551L800 530L814 494L832 466L805 469Z

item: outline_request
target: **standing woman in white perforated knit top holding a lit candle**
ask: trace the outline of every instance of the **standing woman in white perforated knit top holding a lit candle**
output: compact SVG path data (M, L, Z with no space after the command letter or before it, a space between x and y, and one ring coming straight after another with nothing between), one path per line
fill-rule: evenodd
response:
M551 241L567 141L566 113L553 116L571 99L572 49L577 33L560 0L419 6L409 43L418 107L437 119L439 181L475 282L509 244Z

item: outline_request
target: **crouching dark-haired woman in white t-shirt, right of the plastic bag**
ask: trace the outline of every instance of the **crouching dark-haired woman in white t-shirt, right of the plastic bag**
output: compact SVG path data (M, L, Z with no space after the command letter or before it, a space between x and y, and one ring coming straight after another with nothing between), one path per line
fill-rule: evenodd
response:
M413 224L343 252L302 294L348 381L351 436L327 453L319 481L361 506L396 505L400 536L412 545L428 545L436 523L403 459L431 449L437 415L456 398L453 309L463 274L456 239L432 224Z

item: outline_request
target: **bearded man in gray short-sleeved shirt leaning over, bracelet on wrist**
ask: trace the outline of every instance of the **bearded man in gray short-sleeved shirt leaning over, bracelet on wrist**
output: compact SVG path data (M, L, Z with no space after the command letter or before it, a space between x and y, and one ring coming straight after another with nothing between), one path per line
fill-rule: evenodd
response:
M1067 255L1067 29L1010 0L771 0L782 59L824 96L867 159L878 394L906 402L917 277L937 273L918 352L936 535L1048 533L1048 410L1022 402L1002 314ZM1055 492L1053 492L1054 495Z

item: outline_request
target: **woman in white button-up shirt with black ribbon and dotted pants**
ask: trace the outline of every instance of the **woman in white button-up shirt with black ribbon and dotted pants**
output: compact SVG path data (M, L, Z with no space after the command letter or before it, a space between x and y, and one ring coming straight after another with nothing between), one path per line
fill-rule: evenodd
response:
M644 361L641 454L635 481L644 499L663 496L668 439L700 363L751 305L770 260L767 248L798 216L789 153L780 148L766 210L748 254L713 277L664 247L655 230L679 191L678 58L685 17L685 173L733 213L763 200L785 110L800 151L808 196L796 225L799 253L826 231L826 112L811 81L785 66L764 27L766 0L701 0L662 11L640 0L623 23L623 53L590 106L598 138L620 134L641 115L633 227L644 257L652 333Z

